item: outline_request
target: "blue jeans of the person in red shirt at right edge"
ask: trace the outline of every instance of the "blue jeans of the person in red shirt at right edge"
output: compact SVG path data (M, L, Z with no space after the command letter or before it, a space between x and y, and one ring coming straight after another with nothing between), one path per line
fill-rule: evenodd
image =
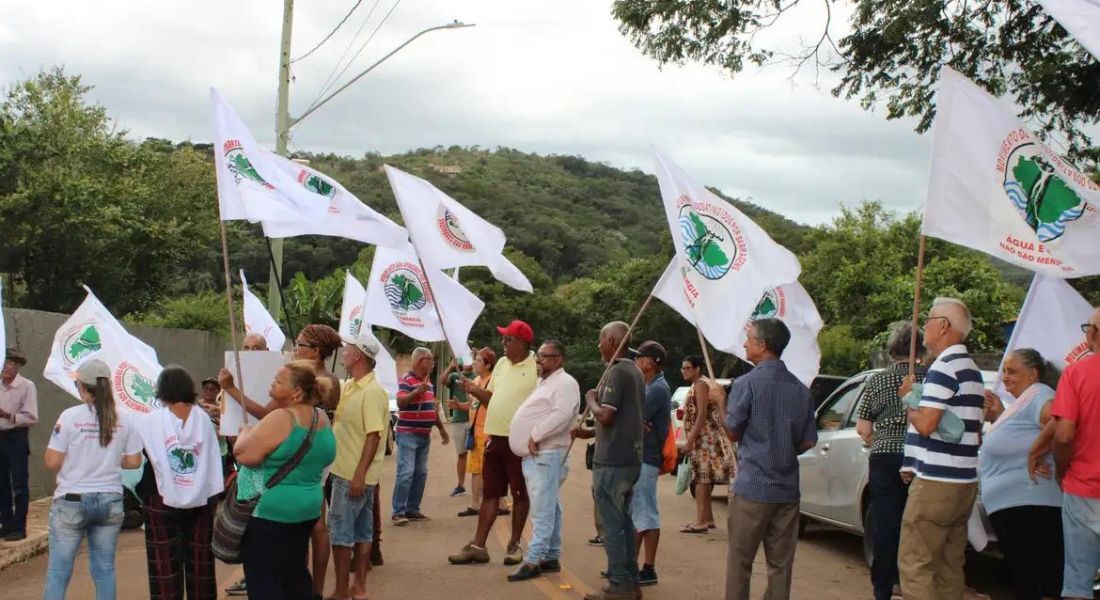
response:
M1062 596L1092 598L1092 579L1100 569L1100 499L1064 493L1062 530L1066 541Z

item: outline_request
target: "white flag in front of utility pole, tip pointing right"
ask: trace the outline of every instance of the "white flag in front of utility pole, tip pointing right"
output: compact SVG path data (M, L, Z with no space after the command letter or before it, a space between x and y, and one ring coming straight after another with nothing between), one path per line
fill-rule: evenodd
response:
M293 221L265 220L264 236L332 236L376 246L396 246L408 241L404 227L363 204L340 182L277 154L267 151L263 151L263 154L287 177L311 192L314 201L320 203L326 209L324 216L320 218L304 215Z

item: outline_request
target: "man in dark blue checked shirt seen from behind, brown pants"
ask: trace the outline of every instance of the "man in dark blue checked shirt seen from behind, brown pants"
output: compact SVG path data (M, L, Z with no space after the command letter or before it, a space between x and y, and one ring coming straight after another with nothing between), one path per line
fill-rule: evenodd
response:
M791 597L799 541L798 457L817 444L817 426L810 390L779 359L790 340L783 321L754 321L745 356L756 368L730 392L726 427L740 444L729 499L726 600L748 600L752 559L761 542L768 563L765 599Z

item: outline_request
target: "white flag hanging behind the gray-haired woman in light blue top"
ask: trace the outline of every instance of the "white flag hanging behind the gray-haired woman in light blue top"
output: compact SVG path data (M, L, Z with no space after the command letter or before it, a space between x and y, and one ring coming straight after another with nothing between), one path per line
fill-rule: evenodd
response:
M1004 353L1033 348L1065 369L1089 353L1081 324L1091 316L1092 306L1065 280L1036 274Z

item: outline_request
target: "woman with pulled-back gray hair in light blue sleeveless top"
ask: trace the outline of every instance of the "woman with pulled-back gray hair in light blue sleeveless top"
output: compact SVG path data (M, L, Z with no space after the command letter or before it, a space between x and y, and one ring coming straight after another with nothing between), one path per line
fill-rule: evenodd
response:
M986 392L993 425L981 443L981 503L1009 564L1016 600L1062 594L1064 546L1062 490L1048 478L1032 481L1027 451L1050 421L1058 371L1031 348L1013 350L1001 366L1005 391L1015 400L1002 408Z

